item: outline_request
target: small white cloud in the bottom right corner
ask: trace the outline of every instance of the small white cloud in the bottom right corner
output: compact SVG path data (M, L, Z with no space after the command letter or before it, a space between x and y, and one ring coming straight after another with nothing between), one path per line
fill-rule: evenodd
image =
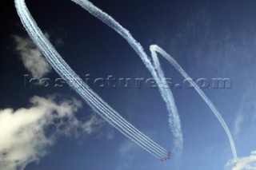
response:
M226 164L229 170L255 170L256 169L256 151L251 152L250 156L230 160Z

